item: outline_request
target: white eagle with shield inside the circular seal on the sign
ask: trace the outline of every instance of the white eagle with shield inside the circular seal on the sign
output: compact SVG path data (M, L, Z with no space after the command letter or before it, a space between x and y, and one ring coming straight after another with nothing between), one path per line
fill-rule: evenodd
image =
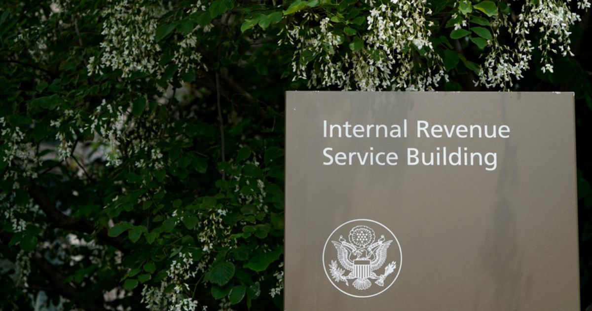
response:
M397 269L397 262L391 261L382 274L377 274L387 259L388 247L392 243L392 240L385 240L384 235L381 235L376 241L374 230L360 225L349 231L348 240L341 235L339 241L331 241L339 261L337 264L337 261L332 260L329 264L333 280L336 283L344 282L346 286L349 286L349 280L353 280L352 286L356 290L367 290L372 286L371 280L375 280L378 286L384 286L385 278ZM346 274L346 271L349 273Z

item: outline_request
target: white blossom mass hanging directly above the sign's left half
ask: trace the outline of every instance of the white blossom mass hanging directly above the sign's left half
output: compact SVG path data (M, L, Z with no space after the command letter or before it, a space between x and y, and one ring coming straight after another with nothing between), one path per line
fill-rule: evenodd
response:
M318 27L289 24L287 42L297 49L292 58L294 79L308 79L309 88L336 85L362 91L426 90L448 79L442 58L429 41L433 22L426 18L431 14L426 0L369 5L368 27L352 36L352 52L337 53L345 39L334 33L337 23L329 17L306 12L303 24L318 23ZM423 65L418 66L417 57ZM312 70L311 59L315 59Z

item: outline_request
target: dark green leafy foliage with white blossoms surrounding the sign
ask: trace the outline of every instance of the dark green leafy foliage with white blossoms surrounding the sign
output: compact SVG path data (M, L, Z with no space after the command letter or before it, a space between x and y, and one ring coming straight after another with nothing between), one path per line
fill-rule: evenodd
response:
M2 2L0 309L281 309L287 89L574 91L589 292L588 7Z

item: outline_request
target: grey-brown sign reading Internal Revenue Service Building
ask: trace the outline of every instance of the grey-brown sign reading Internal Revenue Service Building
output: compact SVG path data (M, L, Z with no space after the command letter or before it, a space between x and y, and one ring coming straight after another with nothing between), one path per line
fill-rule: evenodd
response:
M285 310L580 310L573 93L287 92Z

